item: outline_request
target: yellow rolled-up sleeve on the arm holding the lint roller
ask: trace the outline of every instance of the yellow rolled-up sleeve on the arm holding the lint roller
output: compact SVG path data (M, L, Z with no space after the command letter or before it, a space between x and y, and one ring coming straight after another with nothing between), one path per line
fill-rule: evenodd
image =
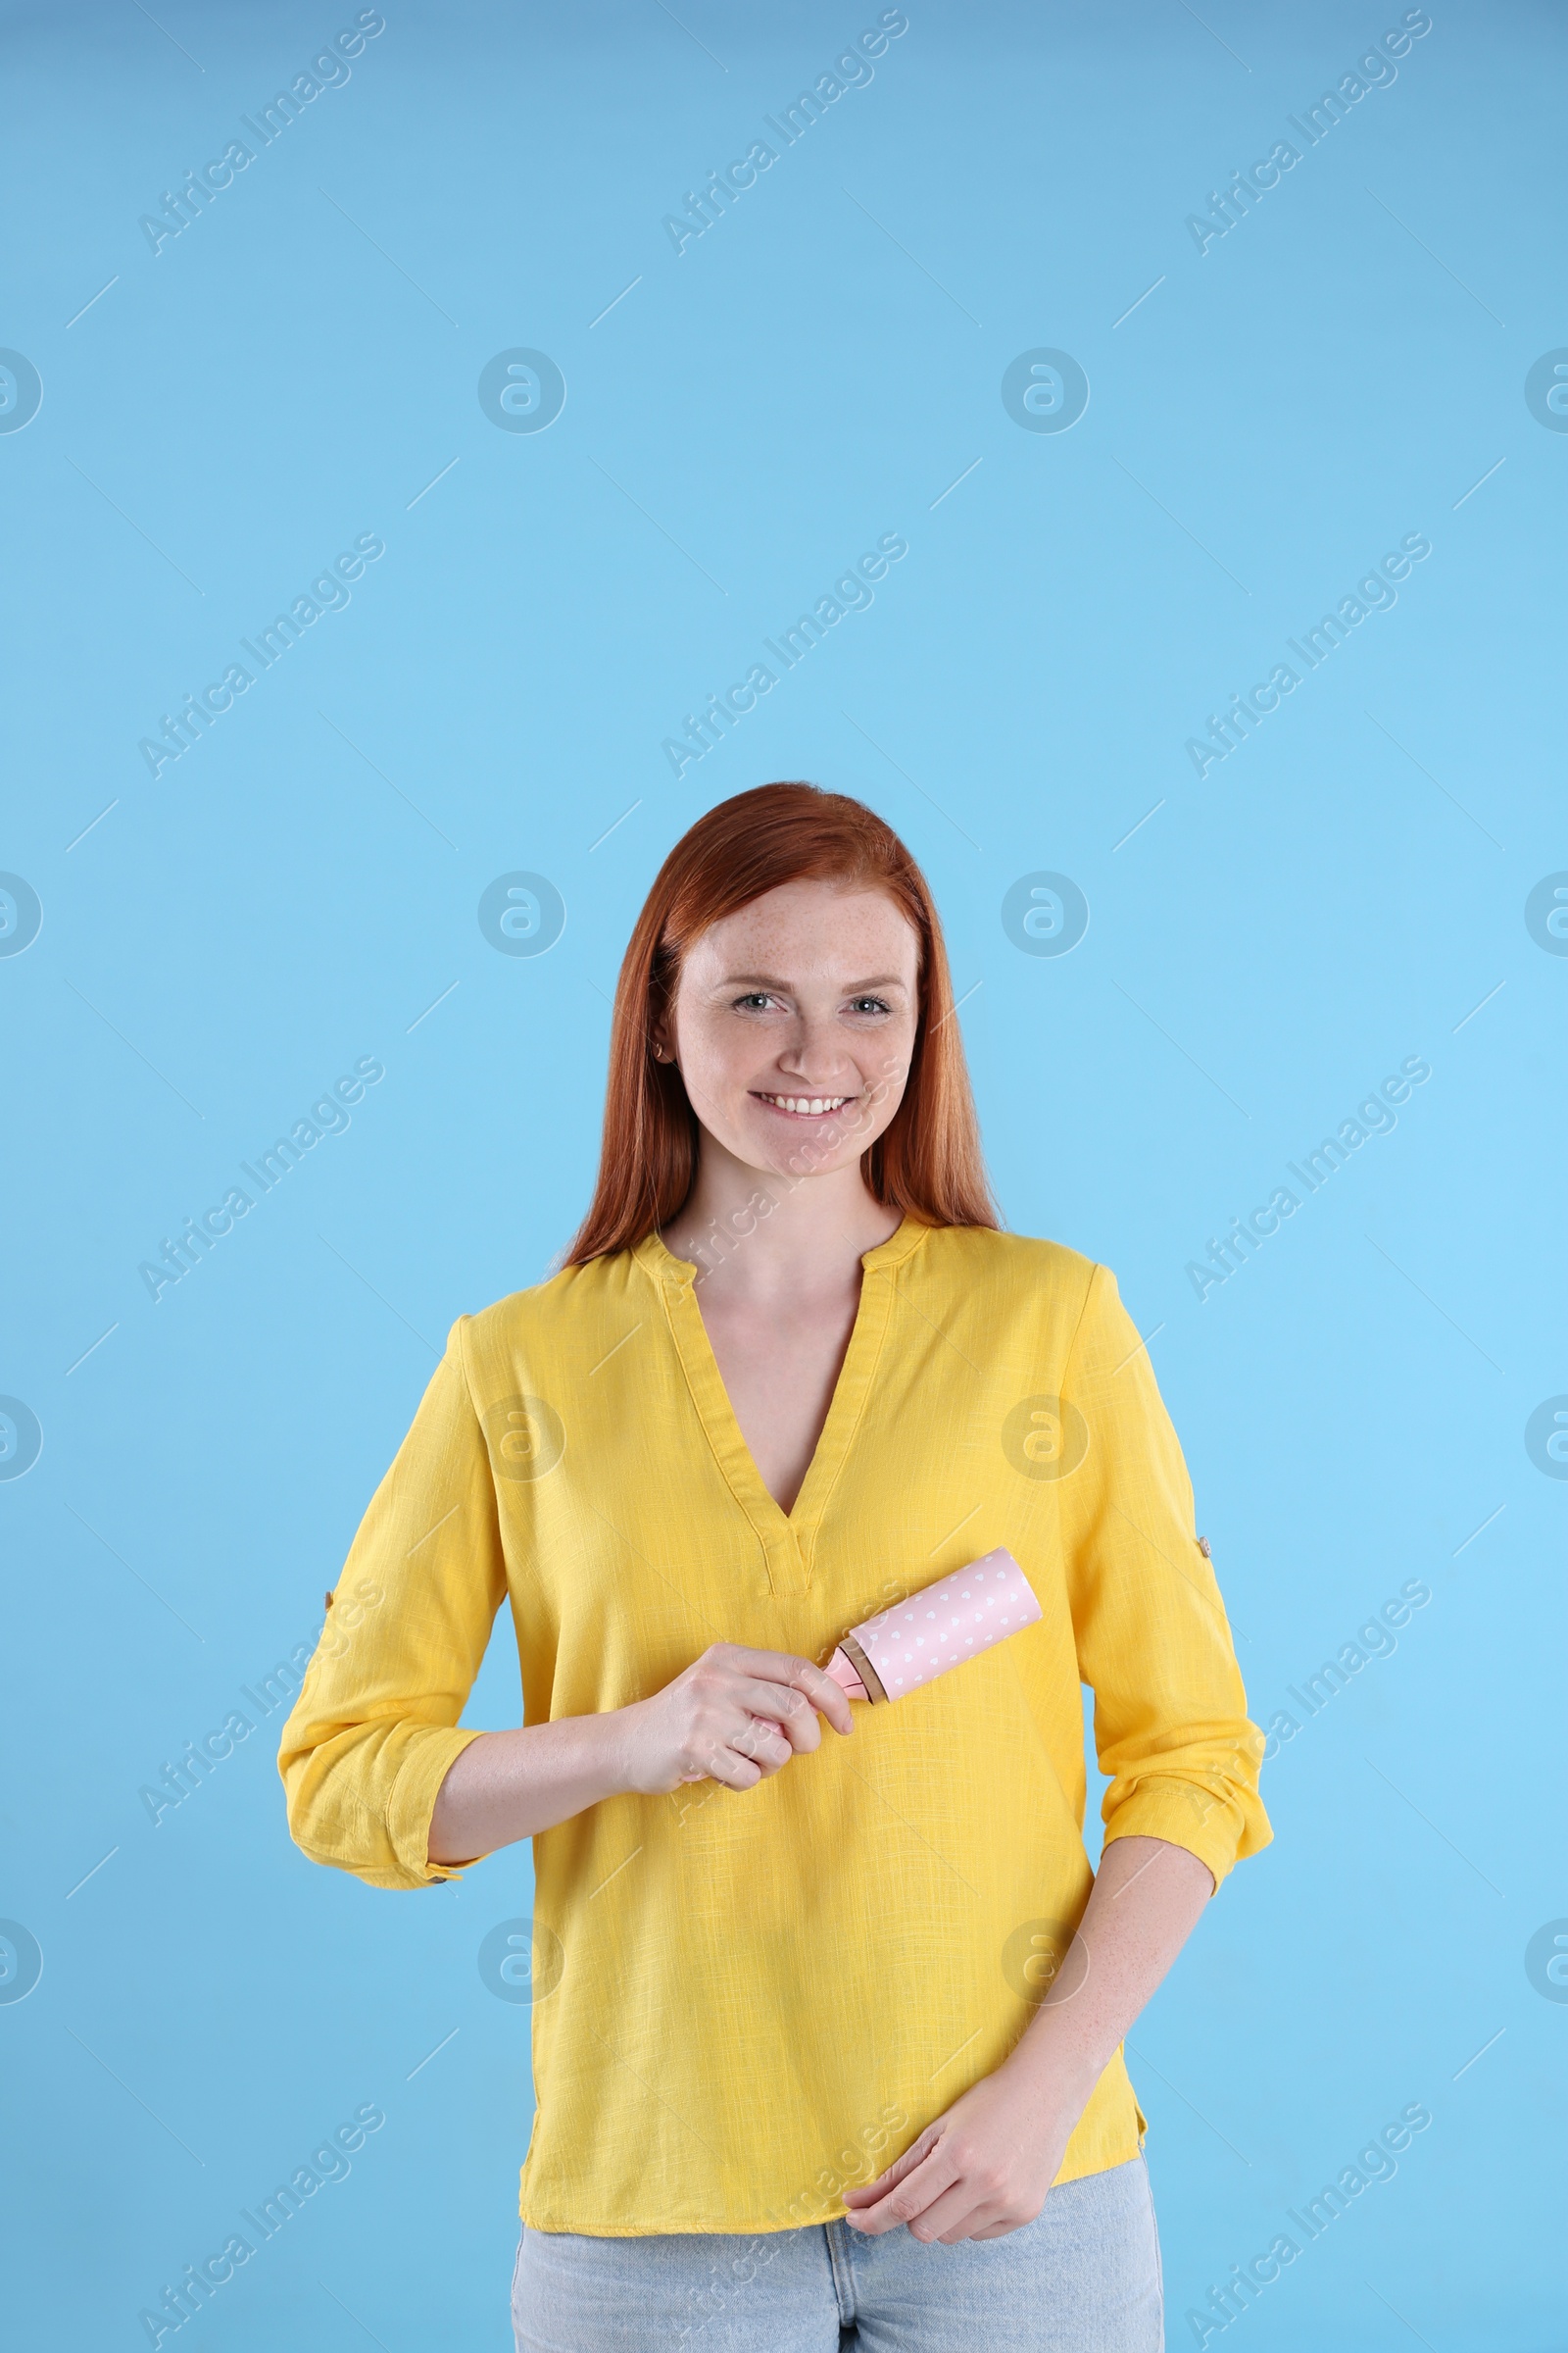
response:
M461 1875L430 1864L430 1814L480 1737L458 1718L505 1598L465 1322L360 1522L277 1753L294 1842L371 1887Z

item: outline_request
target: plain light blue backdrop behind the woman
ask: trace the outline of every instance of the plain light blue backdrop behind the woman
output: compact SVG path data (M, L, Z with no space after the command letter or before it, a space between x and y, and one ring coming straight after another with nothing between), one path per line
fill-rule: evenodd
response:
M1185 216L1399 7L910 0L677 256L661 216L877 7L388 5L153 256L160 191L353 14L9 12L0 341L45 381L0 438L0 866L45 908L0 960L0 1388L45 1433L0 1485L0 1913L45 1955L0 2005L14 2341L143 2344L378 2101L181 2341L510 2344L529 2012L475 1955L527 1849L418 1899L310 1866L280 1715L158 1828L136 1793L315 1638L449 1322L576 1224L658 859L809 776L931 875L1009 1221L1154 1334L1253 1713L1432 1588L1267 1767L1276 1842L1133 2033L1171 2344L1425 2101L1237 2327L1544 2353L1568 2007L1523 1955L1568 1913L1568 1489L1523 1426L1568 1391L1568 960L1523 901L1568 866L1568 435L1523 376L1568 344L1561 14L1436 5L1199 254ZM545 433L480 409L510 346L564 372ZM1001 407L1034 346L1088 374L1067 433ZM348 609L153 781L160 713L362 532ZM872 609L677 781L661 739L884 532ZM1408 532L1399 605L1199 781L1185 739ZM480 934L510 868L564 896L543 958ZM1088 896L1060 960L1001 929L1034 868ZM1208 1235L1413 1054L1399 1127L1199 1304ZM139 1261L357 1056L350 1129L153 1304ZM470 1720L515 1711L496 1645Z

